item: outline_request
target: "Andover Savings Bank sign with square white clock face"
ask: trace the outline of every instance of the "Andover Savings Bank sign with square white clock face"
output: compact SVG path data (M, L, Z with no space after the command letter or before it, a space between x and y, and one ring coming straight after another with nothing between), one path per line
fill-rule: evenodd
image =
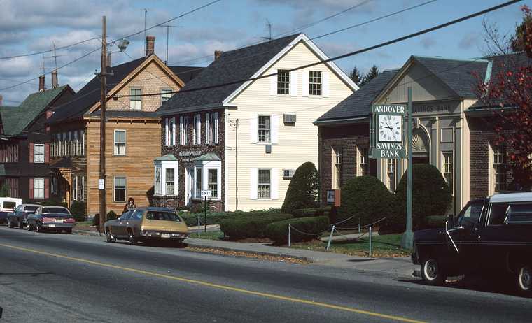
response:
M370 157L405 158L404 117L406 106L374 104L370 117Z

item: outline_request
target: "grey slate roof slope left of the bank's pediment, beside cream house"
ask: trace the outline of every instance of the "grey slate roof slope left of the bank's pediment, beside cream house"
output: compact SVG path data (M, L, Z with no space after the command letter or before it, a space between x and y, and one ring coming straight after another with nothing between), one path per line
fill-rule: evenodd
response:
M377 98L382 89L386 87L397 72L398 69L383 71L366 85L360 87L358 91L347 96L346 99L338 103L334 108L328 110L316 122L366 117L370 114L371 104L374 99Z

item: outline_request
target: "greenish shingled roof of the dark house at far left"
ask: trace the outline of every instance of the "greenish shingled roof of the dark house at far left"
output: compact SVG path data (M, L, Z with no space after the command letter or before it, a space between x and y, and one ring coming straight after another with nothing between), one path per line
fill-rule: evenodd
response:
M72 91L69 85L63 85L55 89L46 89L43 92L29 94L18 107L2 107L1 117L4 134L6 136L16 136L20 134L65 90Z

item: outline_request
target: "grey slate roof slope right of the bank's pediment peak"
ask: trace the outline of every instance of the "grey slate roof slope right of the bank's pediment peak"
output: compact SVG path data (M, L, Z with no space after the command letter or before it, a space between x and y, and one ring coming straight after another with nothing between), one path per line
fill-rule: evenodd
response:
M486 77L489 61L486 59L448 59L443 57L412 56L452 92L463 99L475 99L475 87Z

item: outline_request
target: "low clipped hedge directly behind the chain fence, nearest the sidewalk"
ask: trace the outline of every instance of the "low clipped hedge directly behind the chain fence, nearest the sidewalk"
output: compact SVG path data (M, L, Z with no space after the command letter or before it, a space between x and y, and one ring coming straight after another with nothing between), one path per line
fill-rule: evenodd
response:
M290 238L292 242L309 241L317 238L323 231L329 228L328 217L300 217L295 219L288 219L268 224L265 230L265 236L272 239L278 245L283 245L288 242L288 224L293 228L290 231ZM303 231L307 234L301 234L296 230ZM309 234L316 234L312 236Z

